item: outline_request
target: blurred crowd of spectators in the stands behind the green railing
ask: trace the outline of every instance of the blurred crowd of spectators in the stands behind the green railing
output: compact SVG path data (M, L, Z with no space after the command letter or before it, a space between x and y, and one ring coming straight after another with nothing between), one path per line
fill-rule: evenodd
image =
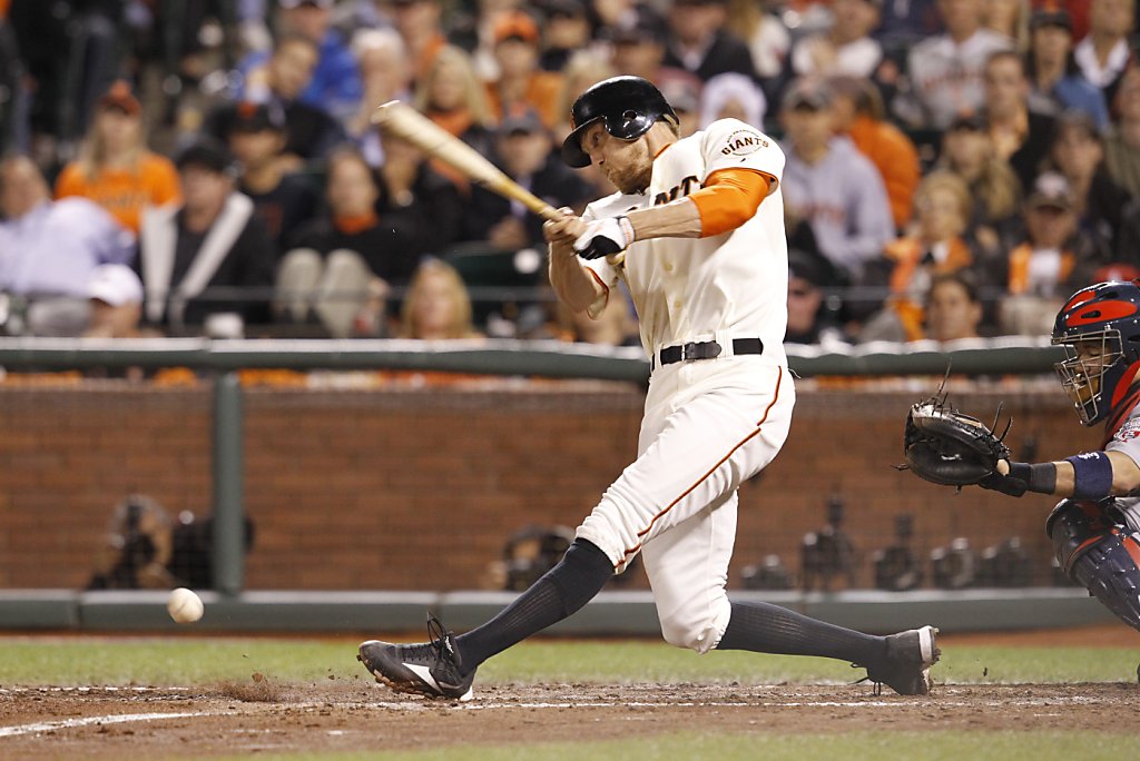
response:
M556 148L620 73L683 134L781 141L789 342L1044 335L1140 276L1137 32L1135 0L0 0L0 324L636 344L621 300L556 306L539 218L369 118L580 212L612 188Z

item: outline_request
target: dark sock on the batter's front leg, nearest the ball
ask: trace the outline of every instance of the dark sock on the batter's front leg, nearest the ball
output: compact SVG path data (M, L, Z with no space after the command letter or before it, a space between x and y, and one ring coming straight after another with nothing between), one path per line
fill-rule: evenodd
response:
M527 637L546 629L592 600L613 575L613 563L585 539L498 615L455 638L464 673Z

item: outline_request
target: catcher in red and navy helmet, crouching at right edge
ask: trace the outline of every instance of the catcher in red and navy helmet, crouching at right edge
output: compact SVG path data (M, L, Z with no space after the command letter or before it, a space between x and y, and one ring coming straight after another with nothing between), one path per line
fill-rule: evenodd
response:
M1065 573L1140 629L1140 285L1077 291L1053 324L1061 385L1084 425L1105 420L1097 451L1056 463L997 464L979 485L1064 497L1045 531Z

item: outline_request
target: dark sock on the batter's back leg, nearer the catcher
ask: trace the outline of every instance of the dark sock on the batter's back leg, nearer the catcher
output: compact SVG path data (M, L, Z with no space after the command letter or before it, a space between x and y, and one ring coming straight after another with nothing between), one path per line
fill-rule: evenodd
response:
M866 665L882 657L886 640L800 615L768 603L733 603L720 650L819 655Z

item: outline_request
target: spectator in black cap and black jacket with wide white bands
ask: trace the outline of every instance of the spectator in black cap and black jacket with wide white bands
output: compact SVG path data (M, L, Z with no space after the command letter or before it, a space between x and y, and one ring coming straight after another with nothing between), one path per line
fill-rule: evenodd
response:
M177 165L182 202L142 214L144 321L168 334L225 325L230 336L267 322L268 298L258 289L272 285L276 252L253 202L235 189L237 170L225 145L203 138Z

